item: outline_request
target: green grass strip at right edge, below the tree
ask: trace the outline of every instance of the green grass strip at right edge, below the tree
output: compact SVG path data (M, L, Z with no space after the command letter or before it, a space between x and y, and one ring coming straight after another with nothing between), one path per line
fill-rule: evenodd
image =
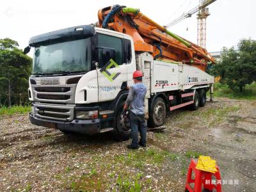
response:
M227 84L214 83L214 97L228 97L230 99L256 99L256 83L248 84L243 92L234 92Z

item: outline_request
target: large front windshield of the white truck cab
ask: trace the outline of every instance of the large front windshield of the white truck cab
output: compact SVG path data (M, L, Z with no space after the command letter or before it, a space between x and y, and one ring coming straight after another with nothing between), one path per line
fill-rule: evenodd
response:
M33 74L88 72L90 45L90 38L85 38L35 47Z

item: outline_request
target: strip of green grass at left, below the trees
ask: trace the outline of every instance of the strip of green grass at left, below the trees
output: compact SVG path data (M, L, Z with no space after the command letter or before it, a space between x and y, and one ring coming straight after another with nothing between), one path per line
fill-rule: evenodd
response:
M12 106L10 108L6 106L0 106L0 116L2 115L14 115L16 113L24 114L31 111L31 106Z

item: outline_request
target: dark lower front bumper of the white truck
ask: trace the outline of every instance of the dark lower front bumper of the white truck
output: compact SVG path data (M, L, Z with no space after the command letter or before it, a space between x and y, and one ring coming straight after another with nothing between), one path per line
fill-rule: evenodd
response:
M34 113L29 113L29 120L31 124L49 127L54 129L60 129L60 131L81 132L86 134L95 134L100 132L100 129L104 128L104 125L100 122L100 119L93 120L72 120L71 122L64 122L59 120L49 120L44 118L38 118Z

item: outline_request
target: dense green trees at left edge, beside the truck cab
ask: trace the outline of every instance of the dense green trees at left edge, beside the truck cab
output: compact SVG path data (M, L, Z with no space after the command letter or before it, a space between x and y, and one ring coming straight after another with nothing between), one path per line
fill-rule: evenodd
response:
M12 93L26 93L31 72L31 58L23 54L19 44L10 38L0 39L0 93L8 95L12 105Z

